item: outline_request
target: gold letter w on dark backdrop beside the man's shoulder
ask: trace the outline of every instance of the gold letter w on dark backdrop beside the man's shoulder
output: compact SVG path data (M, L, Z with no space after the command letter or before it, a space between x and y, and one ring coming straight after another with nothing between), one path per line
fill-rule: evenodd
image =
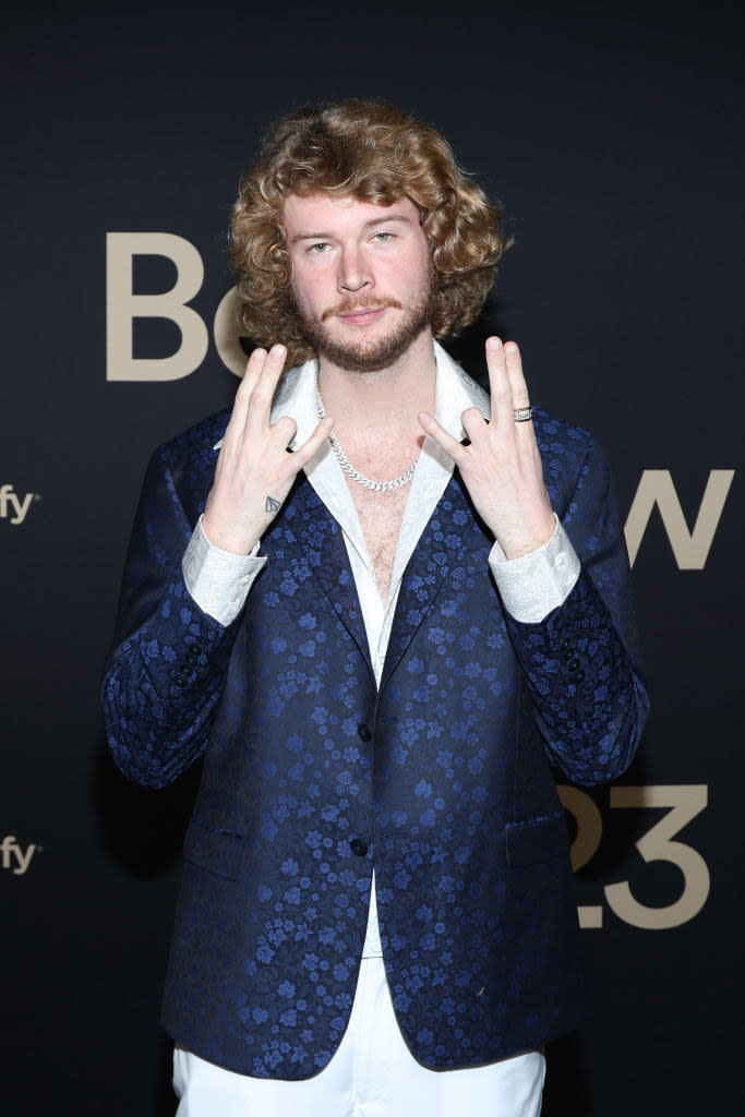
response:
M655 505L672 547L679 570L704 570L719 524L734 469L711 469L693 532L672 483L669 469L644 469L625 522L625 545L633 566Z

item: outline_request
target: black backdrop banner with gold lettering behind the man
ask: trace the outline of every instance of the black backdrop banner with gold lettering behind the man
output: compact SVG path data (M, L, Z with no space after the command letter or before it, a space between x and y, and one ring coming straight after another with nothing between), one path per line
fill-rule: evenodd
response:
M611 786L562 784L586 1027L550 1117L742 1111L742 27L725 9L13 13L0 556L8 1115L172 1114L159 1000L199 773L107 756L98 684L146 460L230 403L225 233L264 127L383 96L431 121L515 238L448 347L519 341L535 401L613 462L652 715Z

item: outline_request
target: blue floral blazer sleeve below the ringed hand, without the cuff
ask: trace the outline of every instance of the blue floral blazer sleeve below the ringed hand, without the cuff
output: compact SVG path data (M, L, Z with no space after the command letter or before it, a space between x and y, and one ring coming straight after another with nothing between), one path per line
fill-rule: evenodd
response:
M556 490L552 493L556 500ZM538 623L506 614L551 760L574 783L619 776L649 713L631 572L610 468L594 440L556 507L581 561L566 600Z

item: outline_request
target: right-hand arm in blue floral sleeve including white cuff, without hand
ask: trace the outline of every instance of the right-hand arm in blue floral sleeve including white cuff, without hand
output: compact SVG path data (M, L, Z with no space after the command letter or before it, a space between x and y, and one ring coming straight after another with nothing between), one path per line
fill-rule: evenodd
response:
M594 447L580 479L557 504L576 550L557 519L532 554L508 562L495 545L490 562L551 758L593 784L631 762L649 701L615 500Z

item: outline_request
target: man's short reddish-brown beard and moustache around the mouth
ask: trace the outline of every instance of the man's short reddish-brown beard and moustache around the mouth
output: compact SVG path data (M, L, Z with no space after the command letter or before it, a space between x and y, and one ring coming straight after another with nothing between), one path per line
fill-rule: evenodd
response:
M432 277L428 275L422 287L414 292L407 307L394 298L374 298L362 295L350 298L338 306L324 311L319 318L313 317L295 303L295 312L303 326L303 333L317 351L340 369L347 372L381 372L403 356L411 344L419 337L422 330L432 321L434 290ZM348 314L357 307L388 306L403 311L395 327L382 337L363 338L359 342L342 342L332 337L324 325L326 318L338 314Z

